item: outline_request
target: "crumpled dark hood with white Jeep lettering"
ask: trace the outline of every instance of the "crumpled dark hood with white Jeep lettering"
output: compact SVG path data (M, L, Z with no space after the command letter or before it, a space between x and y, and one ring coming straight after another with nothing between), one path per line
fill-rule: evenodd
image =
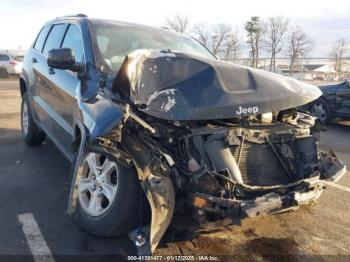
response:
M125 59L122 69L117 78L128 79L133 103L167 120L276 112L322 94L316 86L292 78L183 53L137 50Z

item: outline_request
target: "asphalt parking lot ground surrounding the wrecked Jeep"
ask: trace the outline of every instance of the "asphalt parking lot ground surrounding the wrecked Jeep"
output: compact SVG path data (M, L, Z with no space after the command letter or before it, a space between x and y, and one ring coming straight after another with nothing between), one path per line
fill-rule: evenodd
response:
M127 236L98 238L66 214L69 162L50 142L29 147L20 132L18 81L0 81L0 261L55 260L76 256L133 255ZM350 167L350 123L330 125L321 136ZM339 184L350 187L348 172ZM350 193L328 187L317 205L268 217L245 219L191 238L171 238L156 255L213 255L245 260L350 260ZM34 242L33 242L34 239ZM35 242L36 241L36 242ZM42 242L44 241L44 242ZM34 243L34 244L33 244ZM43 250L36 250L44 243ZM37 244L37 245L36 245ZM41 245L42 246L42 245ZM37 248L38 249L38 248ZM33 251L34 250L34 251ZM40 253L42 252L42 253ZM45 253L46 252L46 253ZM50 258L48 258L50 261Z

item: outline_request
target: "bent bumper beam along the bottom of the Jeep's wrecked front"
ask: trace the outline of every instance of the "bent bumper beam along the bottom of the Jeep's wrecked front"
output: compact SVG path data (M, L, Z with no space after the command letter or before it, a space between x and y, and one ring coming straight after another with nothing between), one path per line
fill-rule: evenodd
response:
M325 189L325 181L337 181L346 173L346 166L337 162L329 176L311 177L299 181L298 185L284 192L269 192L255 199L238 200L214 197L203 193L192 196L192 204L197 209L223 216L240 215L242 217L256 217L295 210L302 205L315 202Z

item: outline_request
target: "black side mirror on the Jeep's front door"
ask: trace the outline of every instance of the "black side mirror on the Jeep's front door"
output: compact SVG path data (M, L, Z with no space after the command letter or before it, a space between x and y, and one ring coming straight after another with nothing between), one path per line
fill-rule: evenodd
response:
M80 72L83 66L75 62L73 50L70 48L51 49L47 59L47 65L56 69L68 69Z

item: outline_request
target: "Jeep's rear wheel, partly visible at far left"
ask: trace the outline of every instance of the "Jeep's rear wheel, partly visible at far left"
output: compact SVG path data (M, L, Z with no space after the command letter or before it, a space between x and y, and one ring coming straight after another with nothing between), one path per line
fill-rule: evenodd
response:
M22 137L28 145L40 145L46 138L46 134L33 120L27 93L24 93L22 96L21 130Z

